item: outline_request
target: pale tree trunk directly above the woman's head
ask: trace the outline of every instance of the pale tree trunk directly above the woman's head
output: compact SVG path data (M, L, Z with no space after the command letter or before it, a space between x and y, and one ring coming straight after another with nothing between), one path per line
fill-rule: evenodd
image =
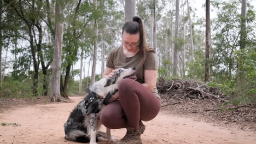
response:
M136 0L125 0L125 22L132 21L136 15Z

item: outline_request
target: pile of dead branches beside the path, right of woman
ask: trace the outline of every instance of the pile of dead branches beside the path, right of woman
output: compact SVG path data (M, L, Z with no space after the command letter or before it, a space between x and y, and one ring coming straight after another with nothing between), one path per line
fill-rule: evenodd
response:
M170 79L159 80L156 87L158 92L165 97L166 101L194 100L194 99L214 99L227 101L225 94L216 87L207 87L206 84L193 80ZM168 96L168 97L166 97Z

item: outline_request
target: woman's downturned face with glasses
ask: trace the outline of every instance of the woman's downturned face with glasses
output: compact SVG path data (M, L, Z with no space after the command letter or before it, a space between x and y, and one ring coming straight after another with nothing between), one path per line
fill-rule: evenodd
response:
M139 33L130 34L124 31L123 33L123 46L128 52L137 52L139 44Z

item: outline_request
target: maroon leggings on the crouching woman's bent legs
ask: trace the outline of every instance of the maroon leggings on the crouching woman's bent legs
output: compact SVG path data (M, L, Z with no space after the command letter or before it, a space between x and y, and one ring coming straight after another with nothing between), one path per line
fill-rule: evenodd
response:
M158 97L135 80L123 79L118 88L119 99L109 103L101 112L101 123L110 129L138 130L139 121L150 121L158 115L161 103Z

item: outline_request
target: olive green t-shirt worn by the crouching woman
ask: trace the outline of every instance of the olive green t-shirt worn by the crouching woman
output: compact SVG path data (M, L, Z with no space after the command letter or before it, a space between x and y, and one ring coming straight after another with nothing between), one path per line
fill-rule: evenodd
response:
M139 83L144 83L144 70L158 70L158 61L154 52L149 52L146 61L143 61L143 53L139 51L132 57L126 57L123 52L123 46L115 47L109 52L106 67L111 69L118 68L136 68L136 77Z

